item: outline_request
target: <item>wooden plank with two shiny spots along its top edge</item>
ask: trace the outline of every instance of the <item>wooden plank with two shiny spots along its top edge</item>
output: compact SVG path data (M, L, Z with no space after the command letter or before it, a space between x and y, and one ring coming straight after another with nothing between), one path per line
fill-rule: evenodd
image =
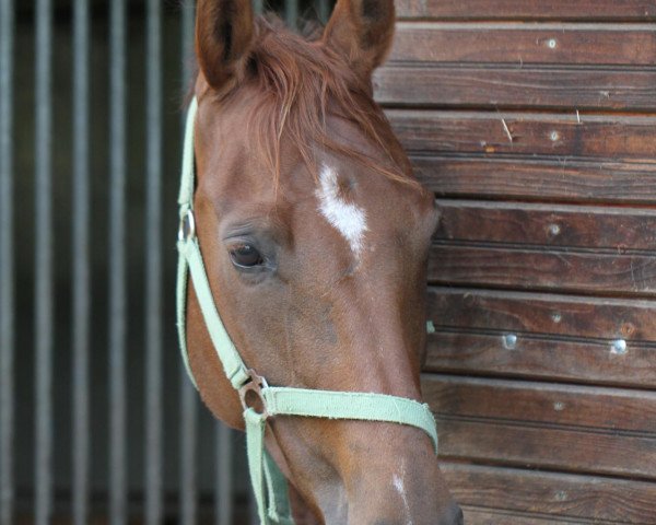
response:
M583 341L513 334L438 329L429 336L423 370L500 377L539 378L653 388L656 348L629 343L618 353L612 341Z

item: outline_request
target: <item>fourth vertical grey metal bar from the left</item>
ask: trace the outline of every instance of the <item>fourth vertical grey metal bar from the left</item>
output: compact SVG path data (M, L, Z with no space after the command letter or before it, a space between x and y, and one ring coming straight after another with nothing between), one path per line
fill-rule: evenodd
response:
M125 525L126 493L126 0L110 9L109 521Z

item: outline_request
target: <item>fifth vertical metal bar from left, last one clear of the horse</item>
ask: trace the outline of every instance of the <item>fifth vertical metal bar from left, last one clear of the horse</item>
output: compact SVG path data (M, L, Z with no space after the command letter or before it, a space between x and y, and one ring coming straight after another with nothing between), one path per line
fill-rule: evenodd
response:
M147 9L145 523L162 522L162 13Z

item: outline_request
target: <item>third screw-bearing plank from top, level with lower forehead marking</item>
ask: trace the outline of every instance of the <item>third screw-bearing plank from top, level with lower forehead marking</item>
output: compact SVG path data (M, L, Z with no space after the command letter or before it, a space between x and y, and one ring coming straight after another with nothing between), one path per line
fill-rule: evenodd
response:
M450 199L437 207L437 240L656 250L656 209Z

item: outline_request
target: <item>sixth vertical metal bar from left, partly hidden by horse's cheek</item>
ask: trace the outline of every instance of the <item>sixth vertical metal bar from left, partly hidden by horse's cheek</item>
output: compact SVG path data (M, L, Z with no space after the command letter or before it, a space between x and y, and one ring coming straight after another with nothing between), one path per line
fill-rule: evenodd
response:
M183 79L185 85L191 81L194 68L194 2L181 5ZM185 115L181 118L181 137L185 133ZM181 140L180 140L181 143ZM195 525L197 522L198 488L196 478L196 444L198 433L198 394L180 363L180 523Z

